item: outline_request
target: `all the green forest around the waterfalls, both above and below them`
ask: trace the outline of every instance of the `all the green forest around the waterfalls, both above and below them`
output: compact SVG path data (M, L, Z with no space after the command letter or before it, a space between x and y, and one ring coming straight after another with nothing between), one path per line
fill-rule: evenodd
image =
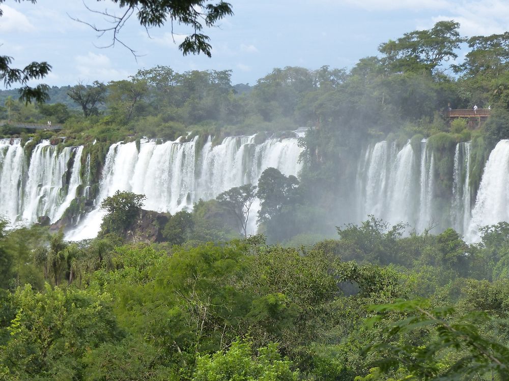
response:
M509 33L465 38L440 21L351 70L286 67L233 85L230 70L158 66L49 88L46 103L1 91L0 119L62 125L33 133L6 122L3 138L26 152L45 139L82 145L92 180L60 226L0 222L0 379L509 379L508 223L480 228L475 243L452 227L417 232L374 215L337 223L352 204L338 184L355 182L370 142L427 139L436 195L451 182L448 153L471 142L479 186L509 139L508 48ZM446 117L474 105L490 107L486 122ZM297 128L297 177L268 168L173 215L118 191L101 202L97 238L69 242L58 229L97 199L112 143L198 136L201 147L209 136L264 141Z

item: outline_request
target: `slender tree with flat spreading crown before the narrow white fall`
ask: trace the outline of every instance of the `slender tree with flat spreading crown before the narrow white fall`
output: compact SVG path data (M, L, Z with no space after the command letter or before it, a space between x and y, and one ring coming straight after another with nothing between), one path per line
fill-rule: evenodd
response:
M245 184L225 190L216 200L219 205L228 210L237 221L239 233L247 237L247 221L249 220L249 210L256 199L256 185Z

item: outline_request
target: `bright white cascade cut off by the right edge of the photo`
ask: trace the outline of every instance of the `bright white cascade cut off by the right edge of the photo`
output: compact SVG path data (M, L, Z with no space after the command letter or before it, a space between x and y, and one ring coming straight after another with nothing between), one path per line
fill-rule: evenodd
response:
M467 241L480 239L479 228L509 221L509 140L501 140L490 153L479 185Z

